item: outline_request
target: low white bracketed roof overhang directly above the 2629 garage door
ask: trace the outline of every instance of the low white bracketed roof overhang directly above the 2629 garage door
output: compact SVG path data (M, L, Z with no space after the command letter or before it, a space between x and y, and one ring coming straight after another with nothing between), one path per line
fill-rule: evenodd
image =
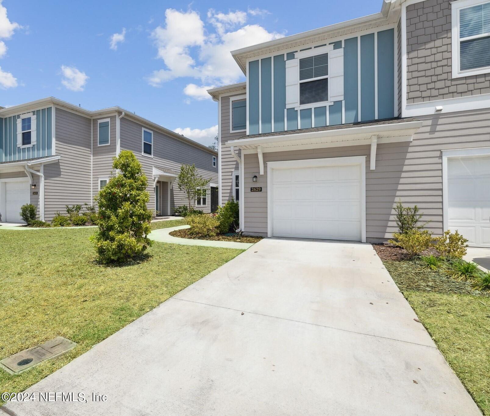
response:
M262 137L244 137L229 140L224 146L239 148L247 153L288 151L305 148L360 146L372 143L373 137L377 144L409 142L413 134L422 125L421 121L374 124L368 126L338 128L313 132L297 132Z

